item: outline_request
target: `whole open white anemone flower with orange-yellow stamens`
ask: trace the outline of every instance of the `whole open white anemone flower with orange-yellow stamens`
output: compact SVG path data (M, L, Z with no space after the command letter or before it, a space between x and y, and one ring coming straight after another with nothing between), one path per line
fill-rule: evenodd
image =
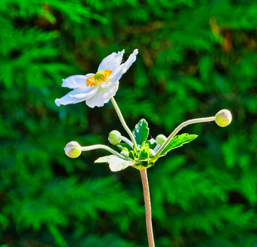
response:
M135 49L128 60L121 64L123 54L124 50L119 51L118 54L113 52L104 58L95 74L71 75L64 79L62 86L73 90L60 99L56 99L56 105L76 104L85 101L87 106L93 108L109 102L118 90L120 78L135 62L138 50Z

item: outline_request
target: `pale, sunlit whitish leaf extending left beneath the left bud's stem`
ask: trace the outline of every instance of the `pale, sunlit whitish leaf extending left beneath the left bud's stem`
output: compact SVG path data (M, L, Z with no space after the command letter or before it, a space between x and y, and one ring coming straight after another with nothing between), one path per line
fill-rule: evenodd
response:
M95 161L95 163L109 163L109 168L111 169L111 172L118 172L122 169L125 169L126 167L135 165L135 162L125 161L124 159L119 158L115 155L100 157Z

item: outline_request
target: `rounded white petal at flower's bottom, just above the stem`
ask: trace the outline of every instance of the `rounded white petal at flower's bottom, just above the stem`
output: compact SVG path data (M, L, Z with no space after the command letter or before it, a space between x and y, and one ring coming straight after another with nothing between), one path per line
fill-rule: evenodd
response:
M115 95L118 88L118 81L104 88L102 86L99 86L96 94L86 100L86 104L91 108L94 108L95 106L103 106L105 103L109 102L111 97Z

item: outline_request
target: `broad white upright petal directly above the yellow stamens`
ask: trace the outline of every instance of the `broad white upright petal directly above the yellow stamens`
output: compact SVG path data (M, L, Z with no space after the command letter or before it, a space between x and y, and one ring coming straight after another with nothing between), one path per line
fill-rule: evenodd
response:
M118 54L113 52L111 55L107 56L102 60L98 67L98 71L103 71L104 69L109 69L110 71L115 71L120 66L122 62L123 51L119 51Z

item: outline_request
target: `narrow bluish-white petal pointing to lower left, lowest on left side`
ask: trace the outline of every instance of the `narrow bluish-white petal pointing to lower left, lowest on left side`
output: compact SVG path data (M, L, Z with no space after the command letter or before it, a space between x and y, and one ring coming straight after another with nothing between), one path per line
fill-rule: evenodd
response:
M98 91L98 87L99 86L87 86L83 89L74 89L60 99L56 99L55 103L57 106L60 106L61 104L76 104L85 101L89 97L92 97L96 91Z

